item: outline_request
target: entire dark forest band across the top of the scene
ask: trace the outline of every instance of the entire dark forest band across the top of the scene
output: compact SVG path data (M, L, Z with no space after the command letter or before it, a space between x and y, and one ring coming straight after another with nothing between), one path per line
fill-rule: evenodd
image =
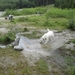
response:
M75 8L75 0L0 0L0 10L30 8L54 4L59 8Z

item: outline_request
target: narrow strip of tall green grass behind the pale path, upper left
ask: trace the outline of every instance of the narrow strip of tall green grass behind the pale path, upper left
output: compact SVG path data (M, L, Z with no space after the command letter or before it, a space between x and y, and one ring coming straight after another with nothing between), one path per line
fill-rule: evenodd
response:
M31 14L36 14L36 12L44 14L47 11L47 8L45 7L36 7L36 8L23 8L22 10L6 10L6 13L4 16L7 16L9 14L13 14L16 16L19 15L31 15Z

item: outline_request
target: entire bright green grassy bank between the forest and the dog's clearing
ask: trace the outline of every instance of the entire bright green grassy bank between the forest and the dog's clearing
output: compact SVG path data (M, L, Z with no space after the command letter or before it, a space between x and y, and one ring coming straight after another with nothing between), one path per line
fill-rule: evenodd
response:
M16 18L15 23L25 22L29 25L42 27L42 28L50 28L50 29L70 29L70 20L75 18L75 9L60 9L55 7L37 7L37 8L25 8L22 10L7 10L5 15L13 14L23 15L23 17ZM27 15L34 16L27 16ZM75 23L72 22L72 28L75 28Z

